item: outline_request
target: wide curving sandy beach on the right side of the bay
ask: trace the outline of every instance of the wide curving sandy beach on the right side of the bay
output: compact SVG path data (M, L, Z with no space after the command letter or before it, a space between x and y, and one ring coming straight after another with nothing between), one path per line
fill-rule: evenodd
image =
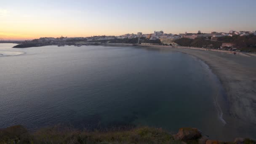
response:
M254 54L233 55L227 52L189 48L166 48L188 53L208 64L224 86L229 114L245 123L256 124L256 56Z

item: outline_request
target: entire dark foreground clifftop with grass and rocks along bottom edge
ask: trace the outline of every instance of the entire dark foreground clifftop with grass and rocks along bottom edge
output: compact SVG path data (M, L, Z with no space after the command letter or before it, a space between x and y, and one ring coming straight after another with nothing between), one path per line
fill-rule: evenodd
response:
M0 129L0 144L256 144L250 139L234 142L208 140L197 128L180 128L172 134L162 128L113 128L80 131L56 125L29 133L21 125Z

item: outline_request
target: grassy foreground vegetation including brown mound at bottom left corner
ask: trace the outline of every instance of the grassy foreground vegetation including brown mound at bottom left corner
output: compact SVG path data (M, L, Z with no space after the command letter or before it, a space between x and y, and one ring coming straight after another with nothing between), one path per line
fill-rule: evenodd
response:
M0 130L0 144L181 144L161 128L132 128L111 131L80 131L55 126L32 134L21 125Z

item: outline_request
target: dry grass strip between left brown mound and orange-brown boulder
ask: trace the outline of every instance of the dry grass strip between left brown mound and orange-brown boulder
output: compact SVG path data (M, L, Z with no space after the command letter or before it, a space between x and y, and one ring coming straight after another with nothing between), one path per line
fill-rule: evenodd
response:
M58 128L44 129L33 134L35 143L42 144L160 144L181 143L161 128L134 128L120 131L78 131Z

